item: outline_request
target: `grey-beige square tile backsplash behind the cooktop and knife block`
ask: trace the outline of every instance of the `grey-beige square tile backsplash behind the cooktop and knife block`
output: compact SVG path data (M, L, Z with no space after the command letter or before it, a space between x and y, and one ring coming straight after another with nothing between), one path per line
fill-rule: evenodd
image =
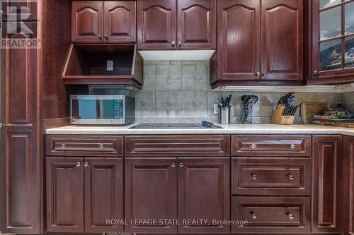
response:
M145 61L144 85L133 91L138 122L217 122L213 104L220 97L232 95L232 123L240 123L242 95L252 93L260 99L253 106L253 123L270 123L273 109L286 92L223 92L212 91L209 85L209 61ZM335 105L341 99L351 109L354 92L295 93L296 104L301 102L329 102ZM354 110L352 111L354 113ZM296 123L301 123L299 111Z

